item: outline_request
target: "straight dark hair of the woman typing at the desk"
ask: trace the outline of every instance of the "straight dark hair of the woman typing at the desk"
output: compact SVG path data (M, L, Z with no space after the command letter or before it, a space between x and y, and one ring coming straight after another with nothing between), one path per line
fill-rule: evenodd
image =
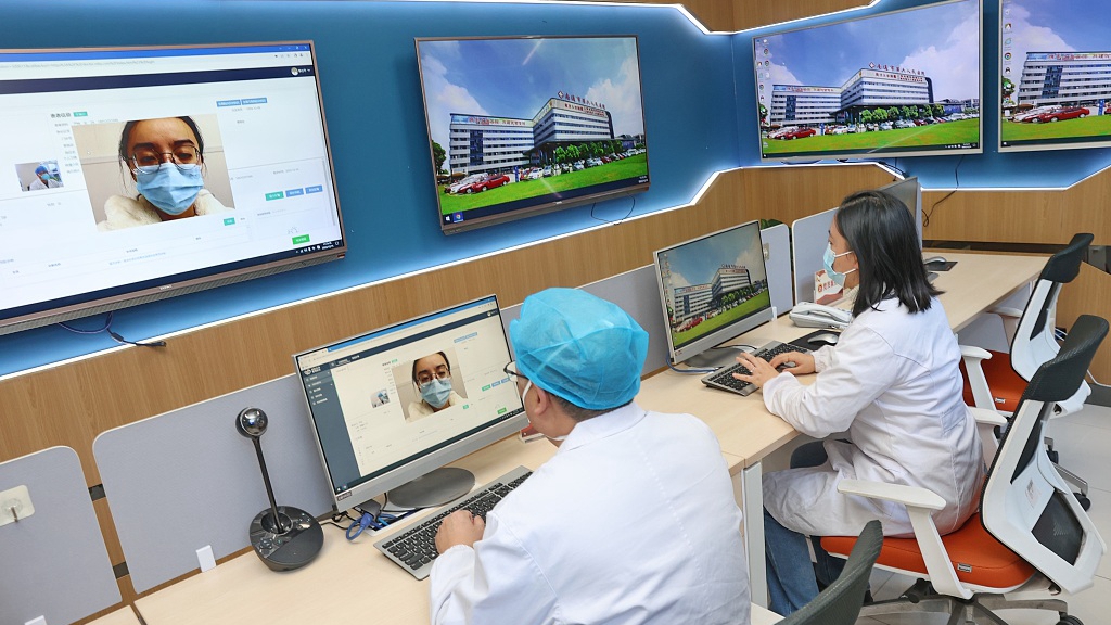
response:
M930 308L941 295L925 276L914 218L907 205L884 191L858 191L841 201L833 219L857 255L860 290L853 316L897 297L911 312Z

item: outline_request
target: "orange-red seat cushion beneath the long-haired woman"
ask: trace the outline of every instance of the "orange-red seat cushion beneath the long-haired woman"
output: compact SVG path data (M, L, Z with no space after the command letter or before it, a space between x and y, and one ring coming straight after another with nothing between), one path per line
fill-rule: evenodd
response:
M822 548L833 555L847 557L855 542L855 536L825 536L822 538ZM1025 583L1034 574L1030 564L988 534L980 523L979 513L969 517L957 532L942 536L941 542L945 545L949 560L957 569L957 578L965 584L1009 589ZM884 537L875 564L914 575L927 575L925 562L914 538Z

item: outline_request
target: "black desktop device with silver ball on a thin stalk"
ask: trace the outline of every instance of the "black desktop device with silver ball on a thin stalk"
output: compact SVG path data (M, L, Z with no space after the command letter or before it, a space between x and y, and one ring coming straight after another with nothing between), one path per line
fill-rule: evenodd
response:
M262 433L267 430L267 414L258 408L243 408L236 417L236 429L254 443L262 483L267 486L270 508L254 516L250 539L258 554L272 571L300 568L317 557L324 543L320 524L309 513L293 506L279 506L270 486L267 463L262 459Z

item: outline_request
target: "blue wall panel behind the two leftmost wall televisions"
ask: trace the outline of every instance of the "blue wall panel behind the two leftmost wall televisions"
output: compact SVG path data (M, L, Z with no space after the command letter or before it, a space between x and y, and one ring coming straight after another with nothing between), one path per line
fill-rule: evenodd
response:
M0 4L4 48L313 40L347 228L343 260L170 298L114 315L131 340L169 334L691 200L737 167L731 37L673 7L312 0L33 0ZM414 37L637 34L651 189L446 237L440 234ZM635 202L635 204L633 204ZM593 210L593 215L591 215ZM651 259L645 258L644 262ZM99 327L103 316L74 321ZM366 319L368 329L381 325ZM51 326L0 336L0 375L116 347ZM163 348L173 353L173 341Z

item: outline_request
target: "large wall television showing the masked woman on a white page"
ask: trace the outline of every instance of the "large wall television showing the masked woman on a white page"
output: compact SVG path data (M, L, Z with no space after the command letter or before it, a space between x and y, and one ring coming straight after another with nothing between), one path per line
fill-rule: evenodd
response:
M0 334L341 258L308 41L0 50Z

